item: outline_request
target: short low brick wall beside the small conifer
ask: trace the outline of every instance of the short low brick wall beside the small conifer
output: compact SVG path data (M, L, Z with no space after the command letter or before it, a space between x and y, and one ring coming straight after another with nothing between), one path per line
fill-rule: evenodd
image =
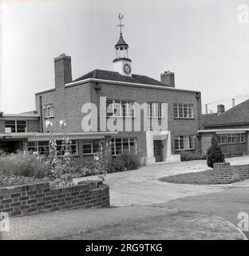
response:
M231 166L229 162L214 164L214 177L217 183L240 182L249 178L249 165Z

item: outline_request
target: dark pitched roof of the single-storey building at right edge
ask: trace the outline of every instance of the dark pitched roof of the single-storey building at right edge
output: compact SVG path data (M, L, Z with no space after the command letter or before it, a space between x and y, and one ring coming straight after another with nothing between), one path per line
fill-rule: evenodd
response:
M229 126L239 124L249 124L249 99L247 101L234 106L223 114L217 115L207 122L204 126Z

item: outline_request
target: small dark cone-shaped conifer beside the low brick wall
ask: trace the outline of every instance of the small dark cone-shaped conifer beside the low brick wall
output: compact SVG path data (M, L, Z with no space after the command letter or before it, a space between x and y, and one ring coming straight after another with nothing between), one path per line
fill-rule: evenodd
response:
M221 147L218 145L217 135L211 137L211 147L207 150L207 166L213 168L215 162L225 162Z

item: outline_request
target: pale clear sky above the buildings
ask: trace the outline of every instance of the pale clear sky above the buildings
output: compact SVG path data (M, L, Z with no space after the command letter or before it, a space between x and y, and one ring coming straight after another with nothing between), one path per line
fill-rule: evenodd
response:
M35 110L34 94L54 86L53 58L72 57L73 79L113 70L124 14L132 73L200 90L203 112L249 98L249 0L0 0L0 111Z

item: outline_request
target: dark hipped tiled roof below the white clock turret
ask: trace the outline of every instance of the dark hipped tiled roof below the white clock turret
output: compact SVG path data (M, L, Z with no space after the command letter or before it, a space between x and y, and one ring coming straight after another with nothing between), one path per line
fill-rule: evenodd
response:
M108 70L93 70L88 74L85 74L80 78L75 79L73 82L85 80L88 78L97 78L102 80L111 80L111 81L118 81L118 82L133 82L133 83L141 83L145 85L154 85L154 86L165 86L164 83L154 78L149 78L148 76L145 76L145 75L132 74L132 77L128 77L126 75L119 74L118 72L108 71Z

